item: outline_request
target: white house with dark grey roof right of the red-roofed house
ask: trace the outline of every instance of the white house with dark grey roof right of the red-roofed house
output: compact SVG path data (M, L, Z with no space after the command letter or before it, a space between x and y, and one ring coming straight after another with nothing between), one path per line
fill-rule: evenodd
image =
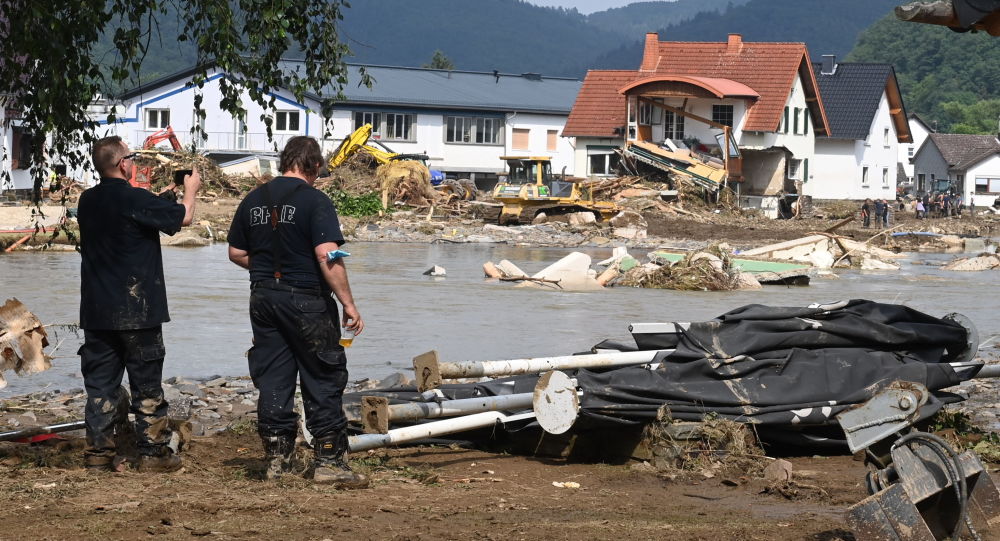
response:
M911 142L903 98L889 64L815 63L830 133L816 138L814 199L895 199L900 148Z

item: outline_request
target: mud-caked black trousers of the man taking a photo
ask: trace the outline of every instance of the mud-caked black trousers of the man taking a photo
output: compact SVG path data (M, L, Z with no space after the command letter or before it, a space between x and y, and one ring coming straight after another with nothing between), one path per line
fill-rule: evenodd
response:
M80 348L83 383L87 389L85 419L88 452L115 451L116 425L127 426L122 401L122 376L127 371L135 414L136 446L143 455L158 455L170 442L167 401L163 398L163 334L160 327L129 331L84 330ZM120 435L120 434L119 434Z

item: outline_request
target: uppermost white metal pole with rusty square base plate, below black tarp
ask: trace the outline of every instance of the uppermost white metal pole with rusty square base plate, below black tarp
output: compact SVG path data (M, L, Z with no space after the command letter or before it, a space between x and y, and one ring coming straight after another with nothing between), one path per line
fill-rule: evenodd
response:
M481 378L537 374L549 370L570 370L574 368L606 368L646 364L660 353L671 353L672 349L647 351L627 351L614 353L594 353L590 355L564 355L561 357L535 357L530 359L510 359L505 361L463 361L443 363L438 360L437 351L428 351L413 358L413 371L417 377L417 388L421 391L441 385L445 379Z

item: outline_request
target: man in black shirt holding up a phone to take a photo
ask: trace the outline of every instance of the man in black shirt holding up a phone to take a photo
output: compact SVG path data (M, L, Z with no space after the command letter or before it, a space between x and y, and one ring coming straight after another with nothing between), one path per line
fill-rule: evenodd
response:
M114 467L116 436L130 429L128 411L118 405L122 376L128 371L140 471L173 471L181 459L167 443L170 428L163 399L161 325L170 321L163 282L160 232L173 235L191 223L197 170L184 179L184 199L177 204L133 188L128 145L106 137L94 145L94 167L101 182L80 196L80 348L87 388L85 463L92 469Z

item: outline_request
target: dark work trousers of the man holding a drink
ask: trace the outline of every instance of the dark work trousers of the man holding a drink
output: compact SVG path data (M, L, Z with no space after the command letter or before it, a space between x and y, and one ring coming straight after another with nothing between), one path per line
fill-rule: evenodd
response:
M260 391L261 436L294 438L297 434L296 377L309 432L322 438L343 431L347 426L343 408L347 357L339 344L336 302L318 290L255 282L250 323L254 345L248 358L250 377Z

